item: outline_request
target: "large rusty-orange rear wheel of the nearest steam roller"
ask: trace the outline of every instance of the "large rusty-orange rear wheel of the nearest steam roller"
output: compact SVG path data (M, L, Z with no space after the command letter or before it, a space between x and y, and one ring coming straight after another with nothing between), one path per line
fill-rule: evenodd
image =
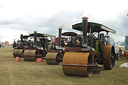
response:
M105 70L112 70L115 66L115 50L112 45L106 45L104 47L103 65Z

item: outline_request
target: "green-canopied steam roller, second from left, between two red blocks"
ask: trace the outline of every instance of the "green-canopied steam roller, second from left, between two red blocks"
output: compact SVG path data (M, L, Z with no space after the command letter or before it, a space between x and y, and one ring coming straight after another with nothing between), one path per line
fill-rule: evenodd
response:
M34 42L30 43L28 47L24 48L23 58L25 61L36 61L36 58L43 58L48 51L49 40L47 37L55 37L48 34L34 33L29 34L30 37L34 37Z

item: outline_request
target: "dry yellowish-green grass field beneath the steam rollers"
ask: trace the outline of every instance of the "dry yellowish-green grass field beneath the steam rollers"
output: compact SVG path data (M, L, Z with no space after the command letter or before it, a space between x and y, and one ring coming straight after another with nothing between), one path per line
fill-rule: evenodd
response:
M128 68L119 65L128 59L119 59L113 70L103 70L92 77L65 76L61 65L36 62L15 62L13 48L0 49L0 85L128 85Z

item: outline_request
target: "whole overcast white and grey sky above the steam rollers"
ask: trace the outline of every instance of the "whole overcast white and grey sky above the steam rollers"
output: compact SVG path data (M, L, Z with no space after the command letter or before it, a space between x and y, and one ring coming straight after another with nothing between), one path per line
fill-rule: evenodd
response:
M58 35L71 31L83 16L116 30L115 41L128 36L128 0L0 0L0 41L13 42L34 30Z

